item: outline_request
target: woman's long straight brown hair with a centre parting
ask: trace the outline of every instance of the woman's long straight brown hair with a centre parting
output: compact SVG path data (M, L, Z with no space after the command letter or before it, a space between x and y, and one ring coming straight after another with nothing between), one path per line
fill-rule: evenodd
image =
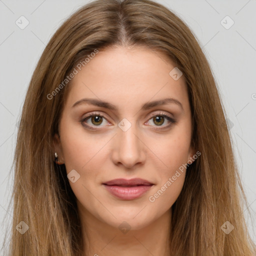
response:
M243 216L247 201L216 81L188 26L150 0L90 2L66 19L45 47L28 86L17 134L8 255L77 256L84 249L65 166L53 162L53 135L70 87L66 76L95 49L113 45L163 52L187 84L191 143L201 155L187 167L182 191L171 207L173 255L255 255ZM23 234L16 228L24 226L20 221L29 226ZM230 225L226 221L234 227L228 234L221 228Z

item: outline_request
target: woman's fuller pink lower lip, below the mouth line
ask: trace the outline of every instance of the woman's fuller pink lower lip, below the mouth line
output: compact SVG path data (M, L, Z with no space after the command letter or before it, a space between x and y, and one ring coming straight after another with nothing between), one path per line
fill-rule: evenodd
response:
M112 195L123 200L132 200L144 194L152 185L118 186L104 184L104 186Z

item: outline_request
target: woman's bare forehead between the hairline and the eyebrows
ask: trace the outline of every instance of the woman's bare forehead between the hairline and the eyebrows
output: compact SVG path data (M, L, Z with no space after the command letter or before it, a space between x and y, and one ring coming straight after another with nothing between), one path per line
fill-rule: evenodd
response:
M185 81L182 76L174 80L169 75L174 67L166 55L149 48L116 46L99 50L72 78L67 104L83 97L110 101L120 107L140 106L166 97L186 104Z

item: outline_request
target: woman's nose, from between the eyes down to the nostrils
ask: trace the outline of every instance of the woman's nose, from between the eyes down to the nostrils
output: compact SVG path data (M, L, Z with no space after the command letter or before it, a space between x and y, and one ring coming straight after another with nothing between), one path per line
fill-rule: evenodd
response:
M145 161L145 145L142 137L136 129L136 125L124 131L117 127L117 134L113 137L112 161L127 168L136 164L143 164Z

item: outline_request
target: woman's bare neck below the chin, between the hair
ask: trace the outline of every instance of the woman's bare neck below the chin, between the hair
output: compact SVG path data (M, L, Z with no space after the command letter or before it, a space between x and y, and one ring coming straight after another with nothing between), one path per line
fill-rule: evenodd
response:
M122 256L170 256L170 209L145 227L128 231L125 231L128 224L124 223L121 231L97 219L84 208L79 211L84 256L119 256L120 253Z

